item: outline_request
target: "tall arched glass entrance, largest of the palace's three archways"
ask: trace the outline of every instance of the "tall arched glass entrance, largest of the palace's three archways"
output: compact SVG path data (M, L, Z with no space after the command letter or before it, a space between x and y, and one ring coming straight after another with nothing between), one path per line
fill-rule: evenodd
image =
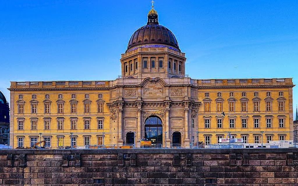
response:
M145 120L144 133L152 144L162 144L162 120L157 116L149 116Z

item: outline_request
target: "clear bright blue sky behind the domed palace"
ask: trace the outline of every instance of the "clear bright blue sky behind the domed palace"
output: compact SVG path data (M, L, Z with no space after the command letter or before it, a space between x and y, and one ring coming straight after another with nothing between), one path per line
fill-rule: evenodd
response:
M298 83L297 0L155 1L192 78ZM115 79L120 54L150 8L150 0L1 1L0 90L9 99L10 81ZM297 103L295 87L294 110Z

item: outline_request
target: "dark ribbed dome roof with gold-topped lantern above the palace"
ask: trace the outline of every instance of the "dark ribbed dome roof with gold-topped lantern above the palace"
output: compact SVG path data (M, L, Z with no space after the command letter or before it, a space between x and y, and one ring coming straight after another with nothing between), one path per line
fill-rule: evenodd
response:
M180 51L178 41L173 32L159 24L158 14L153 9L153 5L148 13L147 25L142 26L134 32L128 42L126 51L136 46L146 44L164 44Z

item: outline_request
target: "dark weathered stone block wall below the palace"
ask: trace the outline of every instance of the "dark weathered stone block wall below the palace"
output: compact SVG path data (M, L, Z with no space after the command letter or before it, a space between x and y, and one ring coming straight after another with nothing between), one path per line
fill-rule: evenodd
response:
M298 185L297 149L2 150L0 185Z

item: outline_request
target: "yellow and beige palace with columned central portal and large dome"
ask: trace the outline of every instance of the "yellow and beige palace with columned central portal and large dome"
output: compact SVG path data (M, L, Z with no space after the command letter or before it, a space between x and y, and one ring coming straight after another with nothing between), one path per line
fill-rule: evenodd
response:
M11 82L10 145L47 147L215 144L293 139L291 78L192 79L185 53L158 14L148 12L111 81Z

